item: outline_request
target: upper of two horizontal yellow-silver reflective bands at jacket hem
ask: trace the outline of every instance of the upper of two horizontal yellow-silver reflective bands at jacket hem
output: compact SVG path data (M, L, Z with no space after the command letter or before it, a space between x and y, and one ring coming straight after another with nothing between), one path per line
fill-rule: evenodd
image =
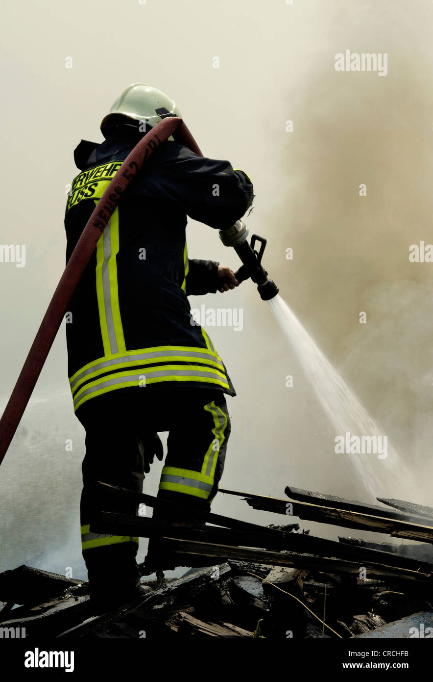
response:
M108 372L111 368L118 370L134 365L146 366L167 361L200 362L224 372L221 357L207 348L197 348L197 346L153 346L152 348L142 348L135 351L125 351L125 353L115 353L114 355L99 357L75 372L70 377L69 384L74 393L74 389L82 384L83 381L89 381L93 376Z

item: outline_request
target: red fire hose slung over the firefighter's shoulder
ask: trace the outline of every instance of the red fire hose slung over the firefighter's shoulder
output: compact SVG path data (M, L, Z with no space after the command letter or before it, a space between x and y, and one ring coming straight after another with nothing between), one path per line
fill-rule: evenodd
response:
M150 154L171 135L176 142L189 147L191 151L202 156L202 152L197 147L193 136L182 119L167 117L163 121L159 121L155 128L148 132L138 145L135 145L118 169L116 175L114 175L114 178L110 181L108 188L98 201L95 210L82 231L76 248L74 248L69 258L59 284L57 284L56 291L54 291L50 305L37 330L29 355L27 355L25 364L22 366L12 395L0 419L0 464L3 462L7 448L14 437L16 428L33 393L46 357L50 352L52 342L59 330L63 316L67 312L69 301L76 290L87 263L89 263L103 229L106 227L110 216L127 190L127 187L138 175Z

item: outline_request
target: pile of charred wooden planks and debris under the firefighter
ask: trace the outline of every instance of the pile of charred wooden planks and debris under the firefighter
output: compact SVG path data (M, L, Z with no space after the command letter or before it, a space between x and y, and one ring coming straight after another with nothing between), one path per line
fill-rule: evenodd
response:
M101 489L161 506L146 494L106 484ZM220 492L282 514L283 523L265 527L203 513L191 525L103 512L93 532L164 537L180 565L207 567L185 569L176 579L143 576L148 591L139 599L95 612L86 582L20 566L0 575L3 637L347 639L433 633L432 508L385 499L366 505L297 488L286 488L289 501ZM385 537L315 537L300 529L299 519ZM391 537L411 544L393 544Z

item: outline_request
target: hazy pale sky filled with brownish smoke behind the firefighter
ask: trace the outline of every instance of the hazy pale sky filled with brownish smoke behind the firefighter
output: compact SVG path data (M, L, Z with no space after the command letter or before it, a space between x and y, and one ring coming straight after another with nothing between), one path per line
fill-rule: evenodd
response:
M410 263L408 249L433 242L432 13L433 4L419 0L3 2L0 243L25 244L26 265L0 263L1 404L63 270L74 147L81 138L102 141L101 119L140 81L176 100L204 155L251 176L255 209L246 222L268 239L270 276L400 449L420 490L430 488L433 263ZM335 55L345 50L386 53L386 76L336 71ZM216 231L190 221L187 235L191 257L238 267ZM227 399L232 434L221 486L283 497L291 484L362 499L253 284L191 300L200 303L243 311L242 331L208 328L238 393ZM3 539L19 518L20 529L30 524L22 535L33 554L46 551L43 533L55 543L78 519L84 434L69 397L64 336L62 327L22 420L28 434L0 471L10 514ZM69 438L74 455L65 454ZM159 471L148 492L156 492ZM214 511L223 508L253 514L217 497ZM52 518L62 513L54 532ZM29 517L42 529L34 546Z

